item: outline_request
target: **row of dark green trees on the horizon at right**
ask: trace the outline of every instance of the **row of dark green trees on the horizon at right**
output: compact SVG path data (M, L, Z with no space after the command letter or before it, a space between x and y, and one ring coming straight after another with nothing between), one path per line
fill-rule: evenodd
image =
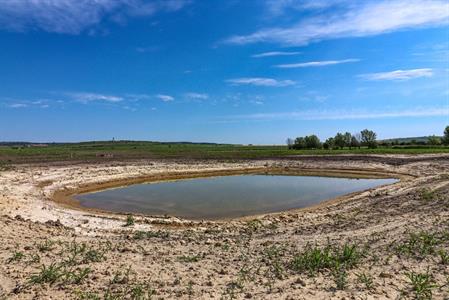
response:
M377 140L377 134L369 129L364 129L355 134L350 132L341 133L338 132L334 137L326 139L321 142L317 135L307 135L304 137L297 137L296 139L288 138L287 146L289 149L302 150L302 149L344 149L344 148L361 148L368 147L369 149L375 149L378 146L392 147L396 145L416 145L416 146L438 146L449 145L449 126L446 126L443 137L432 135L427 138L426 141L410 140L409 142L399 141L382 141Z

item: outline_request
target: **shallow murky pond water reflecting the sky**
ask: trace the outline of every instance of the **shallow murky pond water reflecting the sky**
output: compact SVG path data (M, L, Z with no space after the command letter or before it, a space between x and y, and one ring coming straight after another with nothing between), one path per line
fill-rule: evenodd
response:
M134 184L75 196L83 207L121 213L227 219L316 205L397 179L234 175Z

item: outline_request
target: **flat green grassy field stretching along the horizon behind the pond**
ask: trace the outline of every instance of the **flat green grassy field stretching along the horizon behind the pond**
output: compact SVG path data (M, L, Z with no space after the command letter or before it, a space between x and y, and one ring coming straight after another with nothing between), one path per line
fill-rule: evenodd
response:
M0 146L0 164L49 161L102 161L140 158L257 159L290 155L449 153L449 147L396 146L377 149L289 150L286 146L247 146L157 142L85 142L48 146Z

